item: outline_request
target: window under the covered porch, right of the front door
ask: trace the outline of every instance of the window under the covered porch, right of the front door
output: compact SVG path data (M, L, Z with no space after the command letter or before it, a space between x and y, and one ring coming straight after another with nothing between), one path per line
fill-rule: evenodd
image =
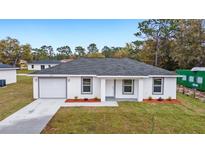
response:
M134 80L123 80L122 84L123 94L133 94L134 93Z

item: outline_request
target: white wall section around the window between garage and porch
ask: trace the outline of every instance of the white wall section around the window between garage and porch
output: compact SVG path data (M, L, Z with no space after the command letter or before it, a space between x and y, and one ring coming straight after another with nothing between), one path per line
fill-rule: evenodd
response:
M93 89L92 94L82 94L81 93L81 77L69 77L67 84L67 97L68 98L100 98L100 79L93 77Z

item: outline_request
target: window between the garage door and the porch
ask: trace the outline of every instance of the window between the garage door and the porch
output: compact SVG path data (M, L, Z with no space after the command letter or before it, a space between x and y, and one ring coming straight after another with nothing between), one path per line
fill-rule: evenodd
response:
M83 94L92 93L92 78L82 78L82 93Z

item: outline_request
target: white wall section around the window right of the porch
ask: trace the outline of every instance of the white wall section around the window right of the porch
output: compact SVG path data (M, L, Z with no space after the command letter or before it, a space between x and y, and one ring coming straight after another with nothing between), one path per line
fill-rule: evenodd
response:
M153 78L144 79L144 99L149 98L150 96L153 99L158 99L159 97L167 99L171 97L176 99L176 78L174 77L165 77L164 78L164 91L162 95L155 95L152 93L152 84Z

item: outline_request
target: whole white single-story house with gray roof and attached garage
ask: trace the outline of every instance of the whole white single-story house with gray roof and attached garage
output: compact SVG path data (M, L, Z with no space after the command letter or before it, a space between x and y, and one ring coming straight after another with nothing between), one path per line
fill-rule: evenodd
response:
M34 98L176 99L173 72L128 58L80 58L31 76Z

